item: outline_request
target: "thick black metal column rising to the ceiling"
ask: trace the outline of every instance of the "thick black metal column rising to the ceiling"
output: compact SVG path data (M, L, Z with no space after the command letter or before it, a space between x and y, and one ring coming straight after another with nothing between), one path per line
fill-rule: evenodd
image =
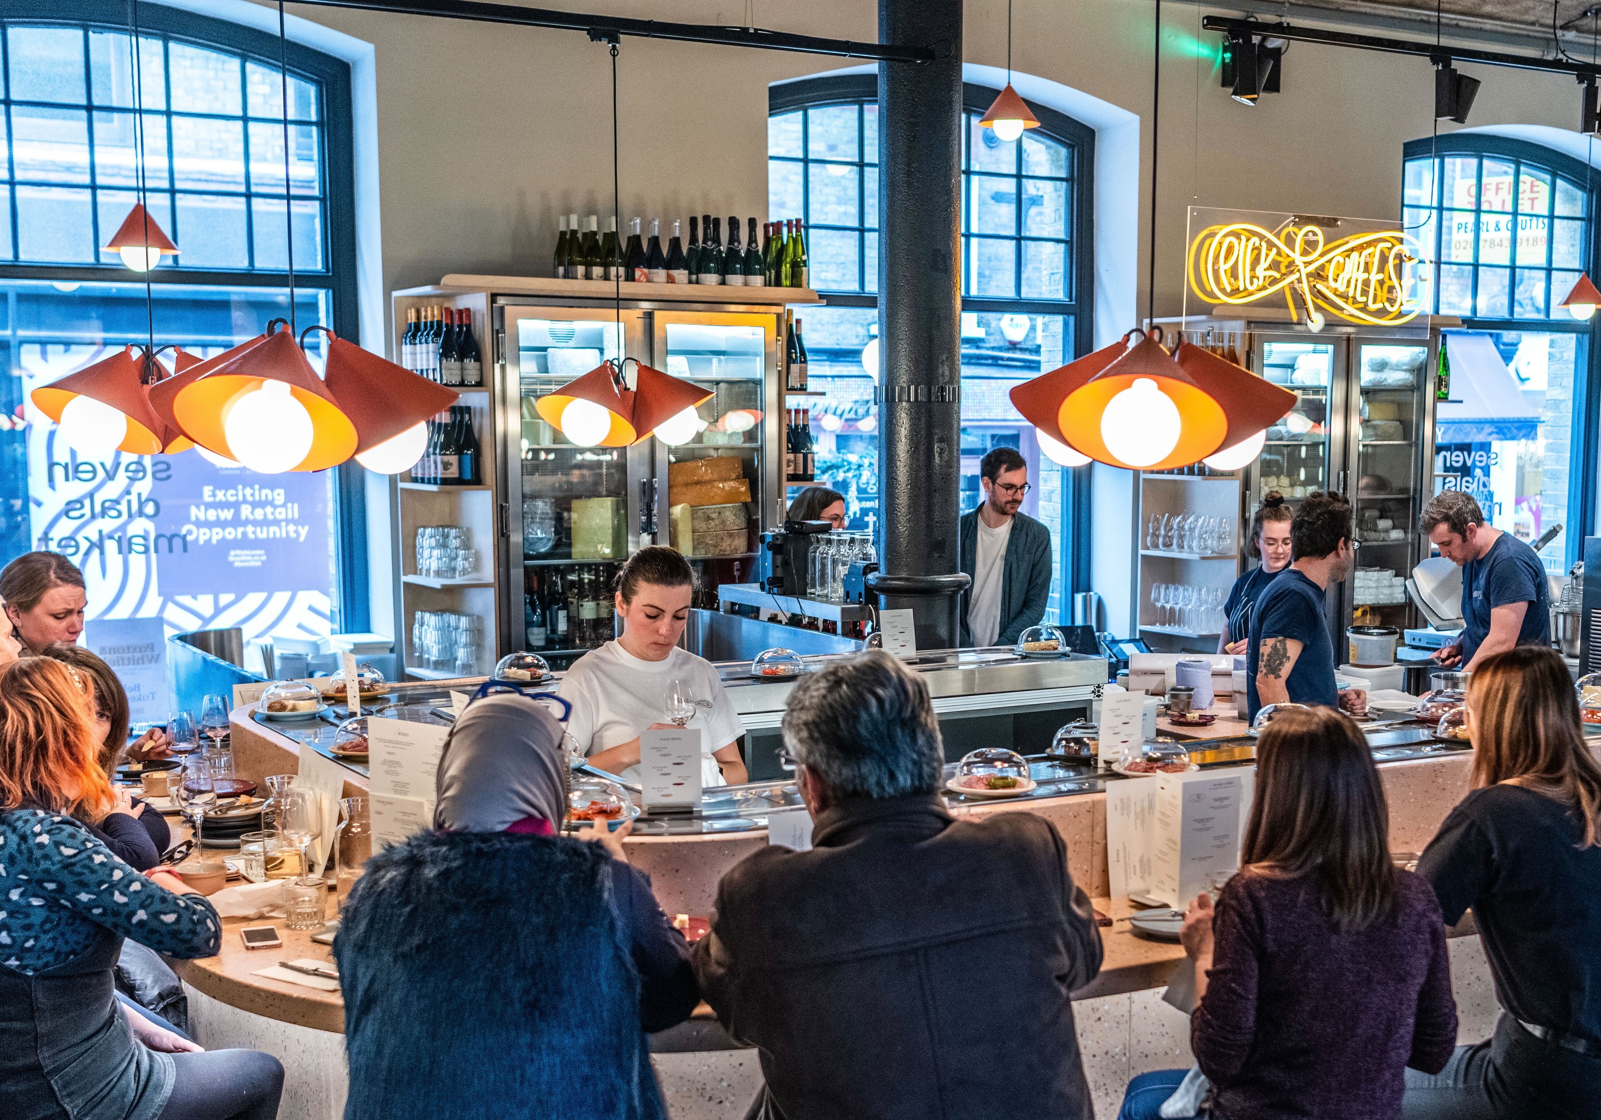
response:
M879 0L879 42L935 61L879 64L879 548L882 609L917 647L957 646L961 485L962 0Z

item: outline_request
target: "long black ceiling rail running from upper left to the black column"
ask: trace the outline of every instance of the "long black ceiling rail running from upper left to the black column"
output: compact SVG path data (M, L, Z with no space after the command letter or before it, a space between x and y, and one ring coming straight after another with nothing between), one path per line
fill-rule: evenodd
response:
M439 19L472 19L492 24L516 24L522 27L583 30L588 32L592 40L604 42L615 42L615 35L634 35L639 38L674 38L684 43L756 46L768 51L799 51L802 54L839 54L844 58L877 59L881 62L932 62L940 56L935 46L858 43L849 38L792 35L783 30L767 30L765 27L668 24L655 19L626 19L623 16L596 16L580 11L522 8L509 3L480 3L479 0L295 0L295 3L309 3L322 8L387 11L402 16L434 16Z

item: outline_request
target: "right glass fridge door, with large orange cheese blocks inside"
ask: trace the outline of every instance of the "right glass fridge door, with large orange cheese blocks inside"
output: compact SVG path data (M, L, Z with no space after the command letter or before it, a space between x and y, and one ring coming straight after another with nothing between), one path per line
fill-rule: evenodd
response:
M783 498L783 439L772 314L653 311L652 353L666 373L712 391L696 409L696 431L655 441L653 485L642 526L655 543L684 553L700 575L701 601L714 607L720 583L754 578L764 524ZM764 511L772 511L764 518ZM776 524L776 522L773 522Z

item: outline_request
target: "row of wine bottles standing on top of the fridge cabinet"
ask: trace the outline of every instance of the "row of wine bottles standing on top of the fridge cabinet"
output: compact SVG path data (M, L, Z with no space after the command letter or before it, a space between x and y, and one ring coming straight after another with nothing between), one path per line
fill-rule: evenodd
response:
M639 232L639 218L629 220L628 244L618 245L616 218L589 215L578 228L578 215L557 220L554 276L565 280L629 280L637 284L728 284L735 287L810 287L805 232L800 220L770 221L757 244L756 218L749 220L744 247L740 245L740 220L728 218L728 244L722 244L722 218L703 215L690 218L690 242L685 247L679 223L661 248L661 221L650 220L650 240ZM704 229L706 239L701 240Z

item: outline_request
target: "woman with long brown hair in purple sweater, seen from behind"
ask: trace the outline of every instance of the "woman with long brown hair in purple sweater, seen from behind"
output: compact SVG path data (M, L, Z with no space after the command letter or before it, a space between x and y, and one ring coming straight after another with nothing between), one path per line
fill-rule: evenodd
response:
M1242 867L1185 918L1196 963L1190 1046L1214 1120L1393 1120L1404 1069L1444 1069L1457 1005L1439 904L1390 862L1390 814L1362 732L1289 711L1257 743ZM1156 1117L1177 1074L1129 1086Z

